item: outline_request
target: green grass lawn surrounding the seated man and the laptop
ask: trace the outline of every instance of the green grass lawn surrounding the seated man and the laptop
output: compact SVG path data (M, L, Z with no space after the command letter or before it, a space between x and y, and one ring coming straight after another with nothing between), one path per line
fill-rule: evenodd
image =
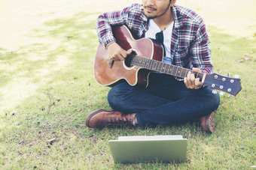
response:
M209 25L215 72L239 74L242 79L236 97L221 97L212 135L197 121L146 130L93 130L84 124L87 114L110 108L109 88L93 77L98 39L95 20L88 19L91 15L95 13L50 20L45 23L47 30L28 35L48 36L58 43L35 43L12 52L0 48L0 169L249 169L256 165L255 36L239 37ZM254 58L239 63L243 55ZM114 164L108 147L108 140L118 136L178 134L188 139L186 163Z

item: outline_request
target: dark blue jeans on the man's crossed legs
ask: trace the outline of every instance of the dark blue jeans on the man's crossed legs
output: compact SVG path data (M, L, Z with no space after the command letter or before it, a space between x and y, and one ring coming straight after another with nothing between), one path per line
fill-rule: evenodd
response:
M115 111L136 113L139 127L175 124L209 115L218 109L219 94L212 89L188 89L184 82L162 73L151 73L147 88L123 82L108 92L108 103Z

